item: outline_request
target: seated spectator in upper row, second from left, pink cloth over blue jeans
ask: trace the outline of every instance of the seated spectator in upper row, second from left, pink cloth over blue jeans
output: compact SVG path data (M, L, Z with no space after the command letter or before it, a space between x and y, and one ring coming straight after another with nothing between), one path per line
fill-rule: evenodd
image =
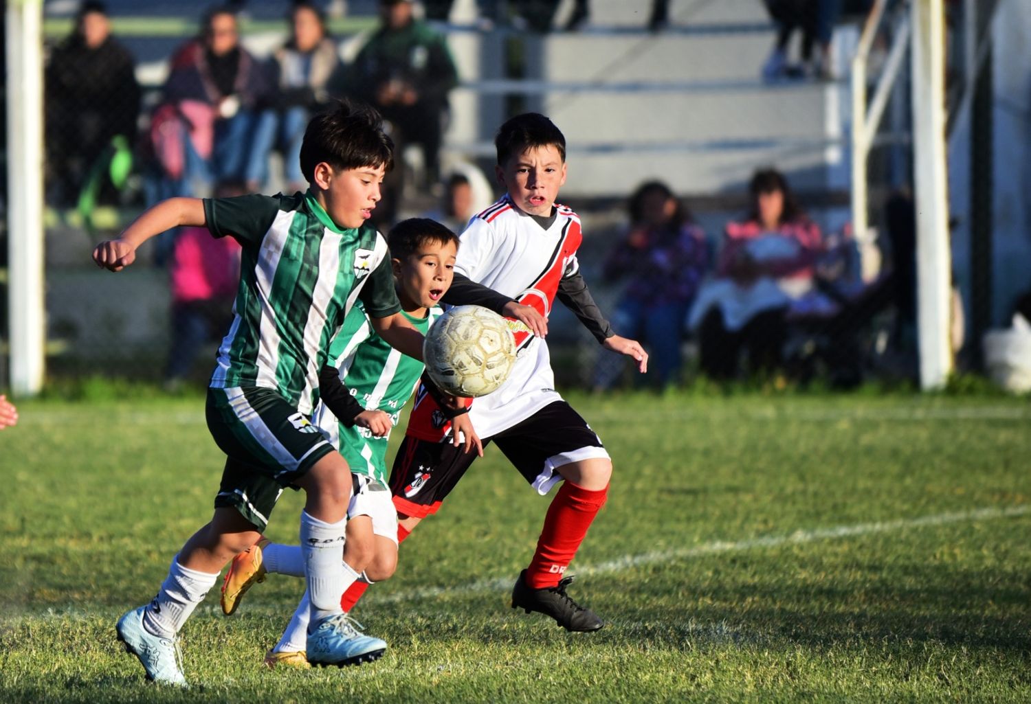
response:
M267 154L254 148L257 110L267 104L265 67L239 43L236 15L210 10L203 33L171 59L151 135L165 187L151 200L192 195L193 181L257 181Z

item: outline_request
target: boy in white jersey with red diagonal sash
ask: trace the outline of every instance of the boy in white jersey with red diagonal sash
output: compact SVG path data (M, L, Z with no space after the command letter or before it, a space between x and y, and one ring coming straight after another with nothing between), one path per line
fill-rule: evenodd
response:
M537 113L512 118L498 130L496 174L507 194L469 222L461 235L456 275L483 283L546 316L556 297L608 349L647 369L635 340L616 335L579 274L579 219L555 199L566 179L565 138ZM473 302L453 286L444 301ZM535 330L534 332L540 332ZM502 387L476 399L470 420L484 445L493 441L528 482L546 495L562 482L547 509L537 549L512 591L512 608L547 614L569 631L596 631L604 623L566 594L566 567L605 501L611 461L601 440L555 391L547 346L539 334L516 334L521 355ZM440 503L475 459L446 442L453 432L433 399L415 397L390 485L403 540ZM350 611L366 584L352 584L341 601Z

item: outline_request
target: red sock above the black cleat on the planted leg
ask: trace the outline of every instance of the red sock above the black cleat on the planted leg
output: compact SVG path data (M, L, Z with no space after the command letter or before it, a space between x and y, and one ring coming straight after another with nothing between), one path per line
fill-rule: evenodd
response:
M540 590L558 585L562 573L584 541L591 522L604 505L607 494L607 485L592 492L572 481L562 482L562 488L547 507L544 528L537 540L537 551L526 570L528 586Z

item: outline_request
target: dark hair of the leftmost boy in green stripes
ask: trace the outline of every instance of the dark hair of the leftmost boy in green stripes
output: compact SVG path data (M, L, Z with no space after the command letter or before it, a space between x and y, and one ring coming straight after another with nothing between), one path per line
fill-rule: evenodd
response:
M337 170L385 166L390 171L394 142L384 132L379 113L363 103L339 100L312 118L301 142L301 173L309 183L321 162Z

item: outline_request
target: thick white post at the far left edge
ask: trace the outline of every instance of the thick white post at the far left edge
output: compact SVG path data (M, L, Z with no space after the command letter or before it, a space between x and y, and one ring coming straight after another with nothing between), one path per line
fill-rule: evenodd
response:
M10 389L43 385L43 72L38 0L7 3L7 247Z

